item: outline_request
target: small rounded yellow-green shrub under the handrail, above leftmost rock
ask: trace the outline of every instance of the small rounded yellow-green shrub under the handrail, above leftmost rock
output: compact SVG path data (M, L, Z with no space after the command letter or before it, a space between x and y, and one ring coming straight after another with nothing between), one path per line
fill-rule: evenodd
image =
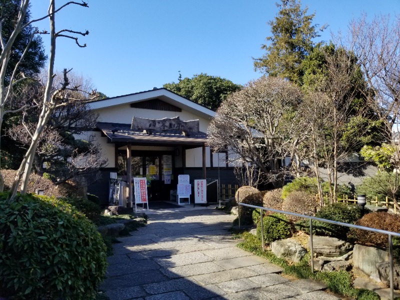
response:
M290 236L290 222L281 213L272 213L262 218L264 241L271 242ZM261 237L261 222L257 225L257 236Z

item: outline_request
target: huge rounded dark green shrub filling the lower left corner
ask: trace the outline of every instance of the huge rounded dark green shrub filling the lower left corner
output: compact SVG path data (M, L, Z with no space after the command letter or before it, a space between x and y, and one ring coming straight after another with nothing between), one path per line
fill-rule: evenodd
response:
M0 295L93 299L105 268L94 224L62 200L0 194Z

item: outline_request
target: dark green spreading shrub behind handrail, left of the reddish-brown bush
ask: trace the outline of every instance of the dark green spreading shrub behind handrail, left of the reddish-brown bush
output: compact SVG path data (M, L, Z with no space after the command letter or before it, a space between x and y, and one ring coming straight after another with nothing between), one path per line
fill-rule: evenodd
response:
M323 206L315 214L316 217L328 220L354 224L361 217L358 205L346 203L333 203ZM295 226L309 234L309 220L298 221ZM350 228L322 221L312 221L312 232L317 235L326 235L345 239Z

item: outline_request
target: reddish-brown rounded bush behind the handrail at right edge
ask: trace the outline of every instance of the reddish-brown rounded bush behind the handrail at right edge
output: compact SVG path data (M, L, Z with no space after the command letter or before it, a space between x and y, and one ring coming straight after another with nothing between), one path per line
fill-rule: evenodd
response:
M356 224L365 227L400 232L400 215L383 211L370 212L361 217ZM386 234L353 228L351 228L350 234L355 238L355 242L358 244L382 248L388 246L388 238Z

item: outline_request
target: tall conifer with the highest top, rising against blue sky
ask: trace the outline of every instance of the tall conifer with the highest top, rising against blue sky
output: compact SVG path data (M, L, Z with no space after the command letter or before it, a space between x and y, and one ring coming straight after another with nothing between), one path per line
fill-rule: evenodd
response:
M254 70L297 82L301 77L301 61L312 51L313 39L326 26L312 25L315 13L307 14L307 8L301 9L299 0L281 0L276 6L279 12L268 22L272 35L266 37L269 43L261 45L265 54L254 58Z

